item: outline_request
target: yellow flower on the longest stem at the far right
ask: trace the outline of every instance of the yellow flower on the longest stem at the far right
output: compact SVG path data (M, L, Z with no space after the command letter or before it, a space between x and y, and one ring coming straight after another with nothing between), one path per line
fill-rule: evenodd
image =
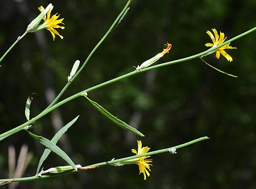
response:
M224 36L224 33L220 32L220 36L218 35L218 32L216 29L211 29L214 32L214 35L210 32L207 31L206 33L210 36L212 43L206 43L205 46L210 46L210 47L216 47L220 44L222 44L225 39L227 37ZM225 37L225 38L224 38ZM220 58L220 54L223 55L223 57L225 57L229 62L231 62L233 59L230 55L228 55L228 53L224 50L224 49L233 49L236 47L231 47L229 46L230 43L227 43L226 45L220 47L217 49L216 51L216 58L219 59Z

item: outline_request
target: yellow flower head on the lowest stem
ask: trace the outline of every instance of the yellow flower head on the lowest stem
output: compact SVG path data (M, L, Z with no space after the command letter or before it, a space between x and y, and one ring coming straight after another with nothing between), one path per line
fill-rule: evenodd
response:
M138 151L136 151L135 149L132 149L132 152L135 153L136 155L146 153L146 152L148 152L148 150L150 150L150 148L148 148L147 146L141 148L142 147L141 141L137 141L137 142L138 142ZM149 171L151 171L150 166L152 166L152 165L149 164L149 163L153 162L152 159L146 159L148 157L150 157L150 156L149 155L148 156L142 156L142 157L138 157L138 158L133 159L135 161L135 164L137 164L139 166L140 173L143 173L144 180L146 180L146 175L148 177L150 176L150 173L147 171L147 169Z

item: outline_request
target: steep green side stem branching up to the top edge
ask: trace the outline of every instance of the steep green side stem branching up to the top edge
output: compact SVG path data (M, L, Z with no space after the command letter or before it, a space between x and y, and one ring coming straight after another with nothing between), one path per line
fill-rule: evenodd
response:
M94 52L97 50L97 48L101 45L101 43L105 40L105 38L110 34L110 32L112 32L112 30L115 28L115 26L118 24L118 22L120 21L120 19L122 18L123 14L126 12L126 10L129 8L129 5L131 3L131 0L129 0L127 2L127 4L125 5L125 7L123 8L122 12L118 15L118 17L115 19L115 21L113 22L113 24L111 25L110 29L108 30L108 32L105 33L105 35L101 38L101 40L98 42L98 44L93 48L93 50L90 52L89 56L87 57L86 61L84 61L83 65L81 66L81 68L76 72L76 74L73 76L73 78L70 80L70 82L68 82L65 87L63 87L63 89L60 91L60 93L57 95L57 97L52 101L52 103L46 108L49 109L49 107L53 106L58 100L59 98L63 95L63 93L69 88L69 86L72 84L73 80L75 80L75 78L80 74L80 72L83 70L84 66L87 65L87 63L89 62L89 60L91 59L91 57L93 56Z

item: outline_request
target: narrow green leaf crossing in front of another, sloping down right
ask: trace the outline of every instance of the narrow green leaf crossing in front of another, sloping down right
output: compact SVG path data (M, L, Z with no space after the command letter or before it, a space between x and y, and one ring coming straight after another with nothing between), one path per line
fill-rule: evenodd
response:
M56 146L54 143L52 143L51 141L49 141L48 139L46 139L44 137L37 136L37 135L33 134L32 132L29 132L28 130L27 130L27 132L30 134L31 137L33 137L39 143L41 143L45 147L49 148L51 151L56 153L58 156L62 157L70 166L72 166L77 171L76 165L73 163L71 158L63 150L61 150L58 146Z

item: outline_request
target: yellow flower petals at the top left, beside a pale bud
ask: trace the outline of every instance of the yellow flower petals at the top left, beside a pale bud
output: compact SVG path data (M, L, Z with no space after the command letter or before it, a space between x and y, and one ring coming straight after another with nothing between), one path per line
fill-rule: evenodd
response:
M38 9L40 12L43 12L45 10L44 7L42 7L42 6L38 7ZM58 35L61 39L63 39L63 36L59 35L59 33L54 28L61 28L63 30L63 29L65 29L65 27L58 25L58 24L62 23L62 21L64 19L64 18L61 18L61 19L57 20L59 17L59 15L57 16L58 13L54 14L51 17L52 9L53 9L53 6L50 8L50 10L47 12L47 14L42 18L44 20L44 23L39 25L37 30L41 30L41 29L49 30L52 34L53 41L54 41L55 34ZM62 23L62 24L64 24L64 23Z

